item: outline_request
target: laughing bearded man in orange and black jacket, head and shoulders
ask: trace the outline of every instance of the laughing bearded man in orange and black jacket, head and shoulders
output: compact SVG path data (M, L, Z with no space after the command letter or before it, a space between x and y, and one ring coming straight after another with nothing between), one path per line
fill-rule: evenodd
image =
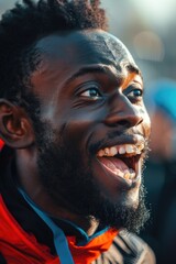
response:
M23 0L0 25L7 263L153 263L141 73L99 1Z

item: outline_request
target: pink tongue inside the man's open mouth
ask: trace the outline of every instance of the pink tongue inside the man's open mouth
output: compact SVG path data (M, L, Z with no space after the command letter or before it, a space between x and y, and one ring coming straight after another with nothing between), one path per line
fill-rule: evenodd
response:
M100 163L107 167L112 173L123 176L127 170L129 170L129 167L127 164L117 157L99 157Z

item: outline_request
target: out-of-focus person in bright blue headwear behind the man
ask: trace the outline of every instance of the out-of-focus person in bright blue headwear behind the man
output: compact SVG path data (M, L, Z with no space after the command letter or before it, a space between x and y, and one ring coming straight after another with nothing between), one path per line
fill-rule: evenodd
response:
M150 88L151 152L144 174L152 217L142 237L158 264L176 263L176 81L161 79Z

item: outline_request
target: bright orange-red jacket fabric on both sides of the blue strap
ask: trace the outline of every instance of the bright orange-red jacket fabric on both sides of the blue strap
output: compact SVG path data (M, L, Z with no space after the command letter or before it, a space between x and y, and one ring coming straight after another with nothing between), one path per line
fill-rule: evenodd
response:
M8 263L62 264L50 249L40 244L33 234L24 232L6 207L0 196L0 249ZM108 229L92 238L86 245L77 245L75 237L67 237L68 246L75 264L90 264L108 251L118 231ZM13 262L11 262L13 260Z

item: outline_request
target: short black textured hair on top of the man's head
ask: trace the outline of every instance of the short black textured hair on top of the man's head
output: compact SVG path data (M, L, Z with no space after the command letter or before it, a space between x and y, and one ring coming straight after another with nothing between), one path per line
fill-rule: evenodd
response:
M38 63L34 44L62 31L107 30L99 0L22 0L0 21L0 98L19 103Z

